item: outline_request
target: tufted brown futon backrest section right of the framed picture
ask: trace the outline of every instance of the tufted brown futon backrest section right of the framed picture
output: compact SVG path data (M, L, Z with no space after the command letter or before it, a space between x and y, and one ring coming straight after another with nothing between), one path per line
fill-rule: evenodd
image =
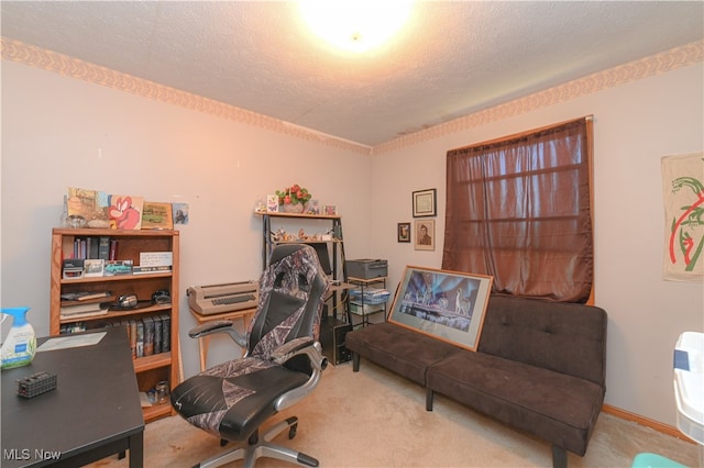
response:
M596 307L492 294L479 350L604 386L606 325Z

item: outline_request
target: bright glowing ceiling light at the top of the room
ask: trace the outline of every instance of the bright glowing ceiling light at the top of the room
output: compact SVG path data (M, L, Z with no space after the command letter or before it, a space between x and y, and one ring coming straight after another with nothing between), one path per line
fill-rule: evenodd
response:
M349 52L378 47L400 30L411 0L300 0L308 26L322 40Z

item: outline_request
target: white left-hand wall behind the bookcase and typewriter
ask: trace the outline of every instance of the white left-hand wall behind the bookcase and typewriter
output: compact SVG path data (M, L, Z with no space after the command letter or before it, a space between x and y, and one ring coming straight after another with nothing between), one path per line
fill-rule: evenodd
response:
M257 196L302 185L338 205L348 255L365 256L369 158L3 60L2 307L31 307L37 334L48 334L51 230L66 187L187 202L180 334L185 374L193 375L198 347L186 334L195 326L186 288L258 279ZM319 223L308 232L330 227ZM211 363L232 356L228 339L219 342Z

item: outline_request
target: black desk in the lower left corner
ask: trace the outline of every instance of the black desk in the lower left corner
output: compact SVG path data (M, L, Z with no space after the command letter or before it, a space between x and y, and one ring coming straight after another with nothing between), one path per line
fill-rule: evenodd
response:
M3 468L77 467L124 450L142 467L144 419L127 330L106 331L97 345L40 352L29 366L2 370ZM41 370L56 374L56 389L19 397L15 380Z

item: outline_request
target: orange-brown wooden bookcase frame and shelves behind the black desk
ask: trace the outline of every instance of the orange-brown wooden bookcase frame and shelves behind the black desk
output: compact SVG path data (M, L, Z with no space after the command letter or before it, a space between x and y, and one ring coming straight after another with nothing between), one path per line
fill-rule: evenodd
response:
M140 264L140 253L170 252L173 256L172 271L144 275L116 275L102 277L64 278L64 259L74 258L76 239L109 237L117 243L117 260L132 260ZM128 326L135 328L135 323L158 321L163 326L169 324L168 349L152 355L138 355L134 345L134 372L141 392L148 391L162 380L168 381L169 388L180 382L180 363L178 352L178 259L179 233L174 230L95 230L95 229L54 229L52 231L52 265L50 297L50 334L59 335L68 330L81 326L86 330L106 326ZM152 303L152 294L156 291L170 292L170 303ZM107 313L81 316L62 315L62 307L79 304L81 301L62 301L62 294L78 292L109 292L105 300L89 300L82 303L114 302L123 294L134 294L139 304L135 309L109 310ZM172 413L169 404L143 408L144 421L166 416Z

